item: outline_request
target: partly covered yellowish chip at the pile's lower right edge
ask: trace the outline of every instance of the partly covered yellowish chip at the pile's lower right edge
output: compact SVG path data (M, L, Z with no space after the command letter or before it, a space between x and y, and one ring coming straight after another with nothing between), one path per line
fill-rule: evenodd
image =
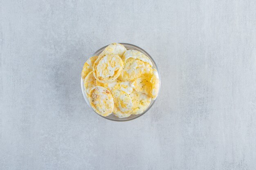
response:
M151 102L151 97L146 95L145 93L137 92L137 91L132 91L130 94L130 97L132 97L132 115L138 115L143 113L148 106L150 105Z

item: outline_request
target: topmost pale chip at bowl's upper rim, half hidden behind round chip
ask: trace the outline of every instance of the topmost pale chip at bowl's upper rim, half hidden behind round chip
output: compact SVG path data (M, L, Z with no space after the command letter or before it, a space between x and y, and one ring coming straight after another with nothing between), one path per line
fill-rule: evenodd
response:
M124 55L124 52L126 52L126 48L124 47L124 45L119 44L119 43L112 43L109 44L106 49L104 49L100 55L99 58L108 55L108 54L117 54L119 55L119 57L122 57Z

